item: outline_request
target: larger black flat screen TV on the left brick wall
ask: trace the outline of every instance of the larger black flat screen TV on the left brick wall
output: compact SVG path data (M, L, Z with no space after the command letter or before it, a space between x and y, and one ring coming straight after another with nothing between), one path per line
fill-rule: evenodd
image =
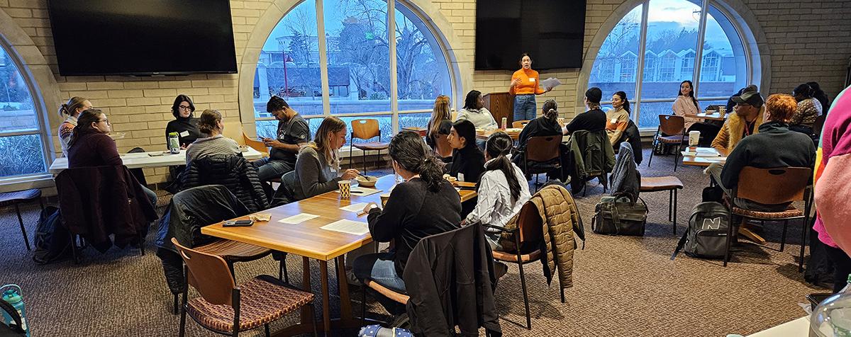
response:
M229 0L49 0L61 76L236 73Z

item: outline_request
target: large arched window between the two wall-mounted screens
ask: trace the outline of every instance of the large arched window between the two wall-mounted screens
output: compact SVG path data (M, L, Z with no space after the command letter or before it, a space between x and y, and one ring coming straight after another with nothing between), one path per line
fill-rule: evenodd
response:
M398 1L322 0L321 5L323 13L317 13L317 2L312 0L290 10L260 52L254 78L258 135L271 137L277 130L277 121L266 113L271 95L283 97L308 118L311 132L326 115L341 117L347 124L358 118L378 119L382 140L406 126L425 127L434 99L454 93L447 48L435 37L436 31ZM391 8L392 35L387 20ZM319 21L324 26L321 34L317 34ZM320 61L322 48L325 64ZM395 73L391 55L396 57ZM326 100L329 110L324 109Z

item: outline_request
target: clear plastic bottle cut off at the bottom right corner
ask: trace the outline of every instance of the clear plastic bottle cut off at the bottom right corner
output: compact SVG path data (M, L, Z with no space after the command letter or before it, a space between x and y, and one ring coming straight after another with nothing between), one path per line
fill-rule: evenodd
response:
M851 337L851 275L848 284L815 307L809 318L810 336Z

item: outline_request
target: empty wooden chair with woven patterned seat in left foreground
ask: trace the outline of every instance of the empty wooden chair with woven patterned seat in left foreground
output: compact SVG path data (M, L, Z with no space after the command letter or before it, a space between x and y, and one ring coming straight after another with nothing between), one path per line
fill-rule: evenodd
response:
M314 321L313 294L294 289L268 275L257 276L237 286L226 261L220 256L191 250L181 246L174 238L171 242L186 263L187 284L201 294L201 297L188 300L188 286L183 293L180 337L186 332L186 313L205 329L232 336L260 325L269 336L269 323L302 306L308 306L307 312ZM314 321L313 335L316 334Z

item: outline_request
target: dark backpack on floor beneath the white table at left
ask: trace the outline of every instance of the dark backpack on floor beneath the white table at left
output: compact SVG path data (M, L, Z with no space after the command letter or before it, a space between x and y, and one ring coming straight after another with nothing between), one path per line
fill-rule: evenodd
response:
M37 264L58 262L71 256L71 234L62 226L58 208L44 207L38 216L35 244L32 260Z

